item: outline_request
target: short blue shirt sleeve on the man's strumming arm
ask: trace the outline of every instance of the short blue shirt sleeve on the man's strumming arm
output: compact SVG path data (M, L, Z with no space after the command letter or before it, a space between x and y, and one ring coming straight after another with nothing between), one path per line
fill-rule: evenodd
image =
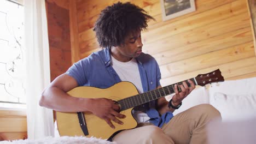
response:
M86 79L86 59L82 59L77 63L73 64L67 71L66 74L72 76L78 83L79 86L84 86L87 82Z

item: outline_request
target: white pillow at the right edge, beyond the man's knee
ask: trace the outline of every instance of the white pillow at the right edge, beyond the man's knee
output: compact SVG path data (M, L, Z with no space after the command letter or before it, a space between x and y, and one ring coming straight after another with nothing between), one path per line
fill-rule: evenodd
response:
M256 94L234 95L214 93L210 104L220 111L223 121L256 118Z

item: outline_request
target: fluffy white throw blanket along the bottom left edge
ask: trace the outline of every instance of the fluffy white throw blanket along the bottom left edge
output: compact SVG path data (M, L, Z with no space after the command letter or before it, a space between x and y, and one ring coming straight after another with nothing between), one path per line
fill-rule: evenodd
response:
M110 142L102 139L97 139L96 137L82 137L82 136L61 136L61 137L45 137L39 140L14 140L1 141L0 144L116 144L116 142Z

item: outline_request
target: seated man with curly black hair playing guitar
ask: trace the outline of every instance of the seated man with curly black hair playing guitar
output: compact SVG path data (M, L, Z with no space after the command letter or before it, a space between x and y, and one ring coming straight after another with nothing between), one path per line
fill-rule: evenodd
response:
M40 106L56 111L90 111L114 128L123 124L120 107L106 98L74 98L66 92L78 86L108 88L121 81L135 84L139 93L161 88L161 74L155 59L142 52L141 31L153 17L131 3L115 3L101 11L94 31L104 47L75 63L45 89ZM210 105L195 106L177 116L172 115L182 100L195 88L193 81L175 85L170 102L160 98L135 107L133 116L139 123L135 129L124 130L113 137L118 143L206 143L205 125L220 117ZM178 92L178 87L181 92ZM139 135L139 136L138 136Z

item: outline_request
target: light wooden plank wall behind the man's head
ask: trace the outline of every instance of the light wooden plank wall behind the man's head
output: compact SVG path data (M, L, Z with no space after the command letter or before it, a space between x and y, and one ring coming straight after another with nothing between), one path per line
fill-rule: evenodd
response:
M92 28L100 11L114 2L77 0L80 59L98 50ZM168 21L162 21L160 0L130 2L156 19L142 33L143 51L158 61L163 86L218 68L226 80L256 76L246 0L195 0L196 11Z

